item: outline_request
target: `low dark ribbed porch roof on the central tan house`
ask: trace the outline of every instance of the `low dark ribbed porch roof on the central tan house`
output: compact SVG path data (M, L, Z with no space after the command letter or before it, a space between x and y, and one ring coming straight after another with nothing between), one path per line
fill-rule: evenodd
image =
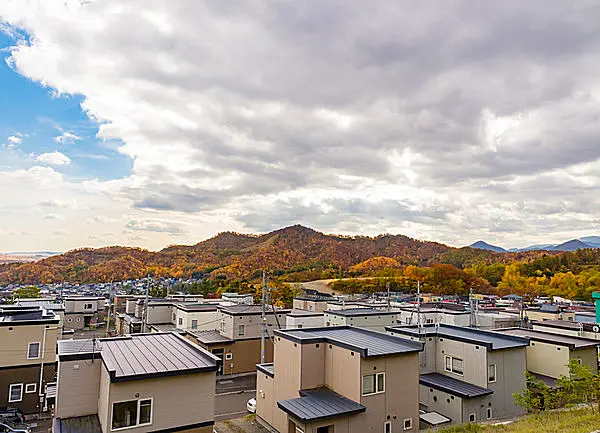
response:
M300 391L300 395L302 397L278 401L277 406L303 422L349 416L366 410L362 404L327 388Z

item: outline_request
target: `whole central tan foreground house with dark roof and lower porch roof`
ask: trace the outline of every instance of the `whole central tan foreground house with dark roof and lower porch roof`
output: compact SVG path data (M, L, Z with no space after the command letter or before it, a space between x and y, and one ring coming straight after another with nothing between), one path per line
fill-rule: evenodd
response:
M423 345L349 326L275 331L258 420L281 433L417 432Z

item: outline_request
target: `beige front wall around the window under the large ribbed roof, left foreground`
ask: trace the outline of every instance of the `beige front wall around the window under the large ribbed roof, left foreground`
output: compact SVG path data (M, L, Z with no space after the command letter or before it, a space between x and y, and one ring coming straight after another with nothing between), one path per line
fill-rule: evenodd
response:
M104 425L111 426L113 403L144 398L153 399L152 424L129 428L129 432L145 433L210 423L214 420L215 372L110 383Z

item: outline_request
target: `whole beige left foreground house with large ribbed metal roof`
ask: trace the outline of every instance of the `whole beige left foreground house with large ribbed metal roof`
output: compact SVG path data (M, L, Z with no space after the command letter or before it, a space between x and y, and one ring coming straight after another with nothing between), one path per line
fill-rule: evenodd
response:
M175 333L58 343L55 433L212 433L217 359Z

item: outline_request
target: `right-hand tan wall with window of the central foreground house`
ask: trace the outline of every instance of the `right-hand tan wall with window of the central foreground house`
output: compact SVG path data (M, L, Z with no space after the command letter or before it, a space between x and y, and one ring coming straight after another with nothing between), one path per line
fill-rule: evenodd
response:
M419 430L418 354L360 359L360 368L359 378L367 374L385 372L385 392L361 396L359 400L355 400L366 406L367 410L352 417L350 431L381 432L384 423L391 421L392 431L417 432ZM404 430L405 419L412 419L412 429Z

